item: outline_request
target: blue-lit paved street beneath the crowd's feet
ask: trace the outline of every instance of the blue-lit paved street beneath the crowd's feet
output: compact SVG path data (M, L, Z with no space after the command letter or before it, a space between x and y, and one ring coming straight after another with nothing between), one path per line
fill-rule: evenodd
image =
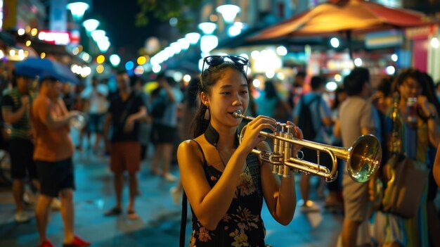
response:
M79 236L91 241L92 246L178 246L181 208L174 205L169 189L174 183L148 174L149 163L144 163L140 178L140 195L136 209L140 220L127 220L127 215L103 217L114 205L112 175L108 160L84 151L75 154L75 229ZM176 167L174 172L177 173ZM297 179L298 181L298 179ZM317 184L318 178L312 179ZM297 186L298 188L298 186ZM297 194L299 195L299 193ZM124 191L127 202L128 191ZM298 196L299 197L299 196ZM312 199L316 198L313 193ZM318 201L322 205L322 201ZM33 207L27 210L33 214ZM36 246L36 220L16 224L11 191L0 187L0 246ZM190 213L189 213L190 215ZM266 243L273 246L335 246L342 216L333 213L303 214L297 208L294 220L284 227L275 222L264 208ZM187 241L190 220L187 225ZM63 224L58 211L51 214L48 237L56 246L63 243Z

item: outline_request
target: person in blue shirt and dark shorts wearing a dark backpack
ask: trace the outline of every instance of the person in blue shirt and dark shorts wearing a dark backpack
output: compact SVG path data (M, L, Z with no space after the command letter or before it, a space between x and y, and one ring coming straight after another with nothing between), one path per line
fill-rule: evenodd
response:
M324 80L322 77L314 76L311 78L311 92L304 94L293 112L293 122L302 129L304 139L309 141L316 141L321 144L328 144L329 140L325 132L325 127L330 127L333 124L332 113L327 103L323 100L322 94L324 89ZM304 160L318 163L316 150L310 148L303 148ZM330 156L321 152L319 163L321 165L330 165ZM299 184L301 191L302 212L318 211L319 208L313 201L309 200L310 176L303 173Z

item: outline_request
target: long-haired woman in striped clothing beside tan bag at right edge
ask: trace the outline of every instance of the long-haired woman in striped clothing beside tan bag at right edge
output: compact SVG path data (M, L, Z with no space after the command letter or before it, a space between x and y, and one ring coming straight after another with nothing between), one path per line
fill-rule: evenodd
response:
M387 112L386 130L387 147L397 147L408 158L428 166L429 145L436 147L439 144L440 134L436 104L432 103L432 99L435 97L433 96L434 92L432 88L427 87L426 79L422 72L414 68L405 69L399 73L395 83L395 91L398 93L398 97L396 97L398 109L395 115L397 124L395 126L397 126L396 131L399 133L399 139L391 143L393 139L396 139L391 138L394 131L393 108ZM408 115L412 113L407 107L409 98L415 98L417 102L417 110L413 115L415 122L408 120ZM394 150L389 150L389 153L391 151ZM384 228L386 230L384 230L383 239L378 239L378 243L398 244L399 246L429 245L427 192L428 186L425 187L422 194L417 195L422 199L415 217L406 218L385 213L386 224Z

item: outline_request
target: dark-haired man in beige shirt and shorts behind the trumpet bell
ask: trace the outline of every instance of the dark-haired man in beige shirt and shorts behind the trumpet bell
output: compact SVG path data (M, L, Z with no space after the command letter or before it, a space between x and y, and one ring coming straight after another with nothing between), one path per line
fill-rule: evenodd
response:
M355 68L344 78L344 88L348 98L339 108L339 119L335 124L335 134L341 134L342 144L351 146L363 134L375 134L373 106L368 101L371 94L370 72L366 68ZM367 227L360 227L368 215L368 183L354 182L347 167L342 175L342 196L344 198L344 222L342 223L342 246L358 246L359 236L368 236ZM366 224L366 223L365 223ZM362 231L359 231L362 229ZM359 233L358 233L359 232Z

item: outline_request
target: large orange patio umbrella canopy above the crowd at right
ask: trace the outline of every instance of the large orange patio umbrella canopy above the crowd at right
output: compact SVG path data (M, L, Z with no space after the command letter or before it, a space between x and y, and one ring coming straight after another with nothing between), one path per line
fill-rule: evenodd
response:
M330 36L426 25L425 15L363 0L339 0L320 4L261 31L250 40L281 37ZM349 47L350 49L350 47ZM351 49L350 49L351 56Z

